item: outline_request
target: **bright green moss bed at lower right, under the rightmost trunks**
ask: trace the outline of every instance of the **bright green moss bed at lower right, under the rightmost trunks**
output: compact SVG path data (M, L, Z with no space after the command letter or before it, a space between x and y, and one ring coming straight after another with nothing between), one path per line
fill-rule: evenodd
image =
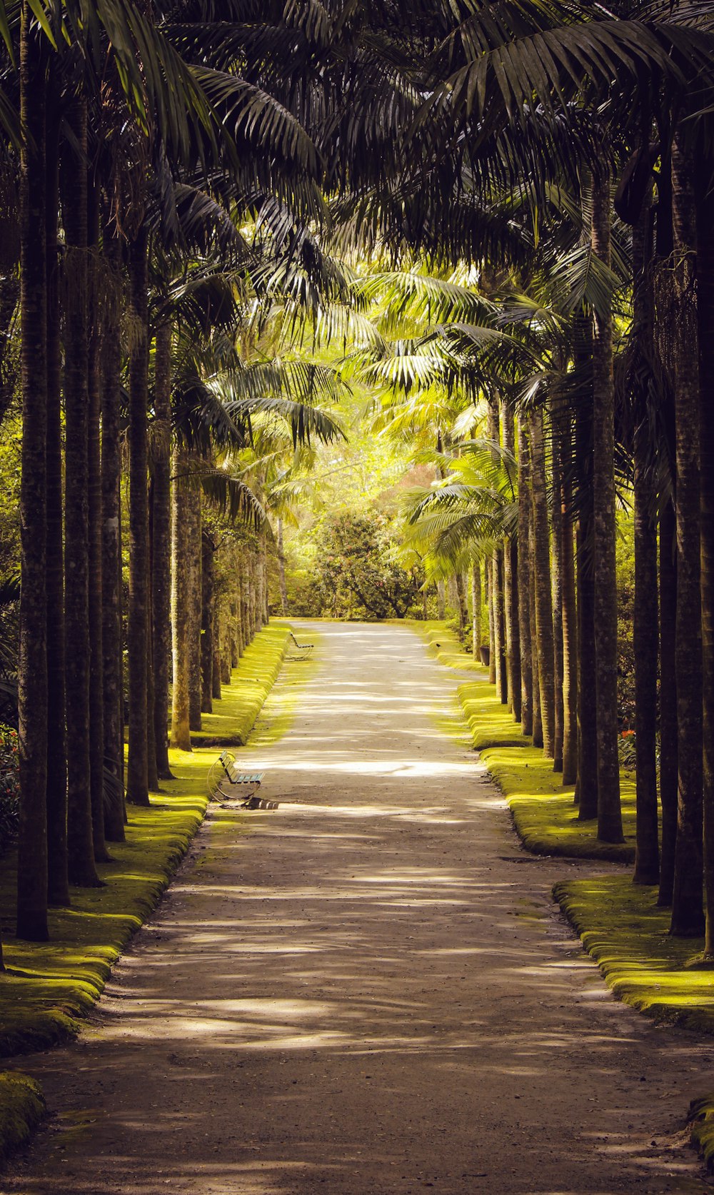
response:
M618 999L657 1019L714 1032L712 968L689 966L702 943L669 934L670 911L658 907L655 888L602 876L559 883L553 894Z

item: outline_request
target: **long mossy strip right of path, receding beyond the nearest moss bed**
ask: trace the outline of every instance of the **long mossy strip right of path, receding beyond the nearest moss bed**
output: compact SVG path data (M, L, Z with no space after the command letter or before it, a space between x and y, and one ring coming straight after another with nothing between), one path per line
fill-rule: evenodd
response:
M594 821L581 822L574 804L575 789L562 783L532 740L520 733L513 715L496 697L488 672L464 656L462 644L444 623L414 623L440 663L469 668L474 679L458 686L458 698L469 724L471 742L504 793L515 832L533 854L631 863L635 858L635 783L621 774L624 842L600 842ZM465 662L464 662L465 661Z

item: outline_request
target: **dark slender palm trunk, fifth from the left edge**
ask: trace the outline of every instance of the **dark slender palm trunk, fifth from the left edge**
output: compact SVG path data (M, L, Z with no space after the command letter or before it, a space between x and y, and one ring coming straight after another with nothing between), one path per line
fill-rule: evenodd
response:
M104 766L117 785L104 810L104 829L112 842L124 839L123 793L123 667L121 611L121 433L120 394L122 348L118 319L121 293L121 245L109 212L104 213L103 252L114 290L112 310L106 311L102 342L102 673Z

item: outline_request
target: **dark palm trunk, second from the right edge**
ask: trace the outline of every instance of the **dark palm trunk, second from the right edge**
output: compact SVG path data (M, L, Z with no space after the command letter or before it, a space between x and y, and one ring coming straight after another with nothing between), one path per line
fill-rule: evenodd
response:
M675 232L672 360L677 458L677 735L678 801L671 932L700 937L702 906L702 603L700 514L700 374L695 282L692 163L672 148ZM673 314L673 313L672 313Z

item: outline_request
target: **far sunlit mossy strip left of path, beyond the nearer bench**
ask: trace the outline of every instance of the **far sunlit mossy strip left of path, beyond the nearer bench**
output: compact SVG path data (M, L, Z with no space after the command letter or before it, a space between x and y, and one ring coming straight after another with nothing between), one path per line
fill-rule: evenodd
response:
M202 729L191 731L196 747L244 747L266 698L273 688L291 643L287 623L271 620L238 661L231 685L214 700L213 713L201 716Z

